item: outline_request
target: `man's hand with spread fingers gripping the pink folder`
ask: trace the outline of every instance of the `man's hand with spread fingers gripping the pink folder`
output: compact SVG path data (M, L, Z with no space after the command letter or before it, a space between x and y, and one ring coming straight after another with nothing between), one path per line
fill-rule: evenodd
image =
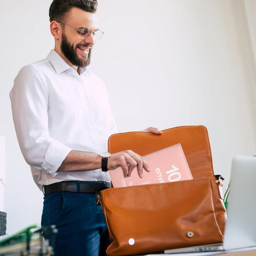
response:
M124 178L130 177L132 170L136 166L140 178L143 177L143 168L147 172L150 172L149 166L143 157L134 153L132 150L121 151L112 154L108 158L108 170L116 169L118 166L122 166L124 171Z

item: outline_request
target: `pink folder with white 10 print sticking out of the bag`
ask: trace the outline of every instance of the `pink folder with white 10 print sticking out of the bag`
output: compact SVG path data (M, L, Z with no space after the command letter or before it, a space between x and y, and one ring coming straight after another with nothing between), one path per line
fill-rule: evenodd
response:
M143 158L147 161L150 172L143 170L143 178L140 178L135 168L131 177L124 178L121 166L109 170L113 186L128 187L193 179L180 143L155 151Z

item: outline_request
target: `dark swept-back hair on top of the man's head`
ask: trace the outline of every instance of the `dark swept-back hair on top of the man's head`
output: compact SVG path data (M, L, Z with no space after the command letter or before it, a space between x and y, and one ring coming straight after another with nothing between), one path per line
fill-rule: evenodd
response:
M97 0L53 0L49 10L50 22L62 20L72 7L95 13L97 5Z

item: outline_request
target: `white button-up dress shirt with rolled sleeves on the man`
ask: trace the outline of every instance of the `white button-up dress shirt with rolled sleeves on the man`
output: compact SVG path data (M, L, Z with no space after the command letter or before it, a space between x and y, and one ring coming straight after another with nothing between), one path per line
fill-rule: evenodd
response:
M64 180L110 180L101 169L57 172L72 149L107 151L108 137L117 132L99 77L87 68L79 75L51 50L19 71L10 99L19 145L40 189Z

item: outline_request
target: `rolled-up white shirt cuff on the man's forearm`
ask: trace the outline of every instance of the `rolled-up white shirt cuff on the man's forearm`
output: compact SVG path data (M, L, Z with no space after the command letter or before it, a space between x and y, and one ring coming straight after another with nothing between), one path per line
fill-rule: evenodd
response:
M71 148L58 141L52 141L46 151L42 164L44 171L51 174L53 177L56 176L58 174L57 170L71 150Z

